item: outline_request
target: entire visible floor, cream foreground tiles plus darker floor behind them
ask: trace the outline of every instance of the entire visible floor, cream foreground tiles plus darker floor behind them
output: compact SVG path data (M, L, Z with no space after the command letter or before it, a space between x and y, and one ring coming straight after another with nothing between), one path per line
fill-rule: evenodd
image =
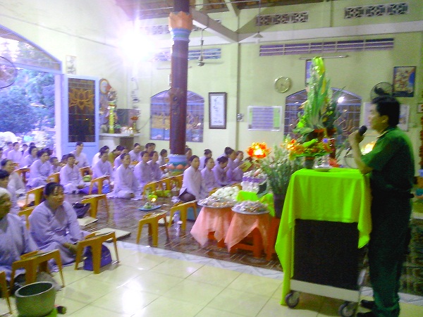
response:
M81 198L67 197L71 202ZM135 244L137 220L145 214L138 208L144 203L109 199L109 217L100 205L97 223L84 228L110 227L131 235L118 242L121 263L101 274L74 271L73 266L64 269L66 287L57 294L56 304L66 306L67 316L338 316L343 301L310 294L301 294L295 309L281 306L283 273L276 256L265 261L247 251L228 254L216 242L202 248L189 233L192 222L185 232L171 228L169 240L161 226L158 248L148 247L147 228ZM170 208L165 199L159 204ZM410 261L405 266L401 317L423 316L423 297L412 292L420 264ZM371 296L372 290L364 287L363 294Z

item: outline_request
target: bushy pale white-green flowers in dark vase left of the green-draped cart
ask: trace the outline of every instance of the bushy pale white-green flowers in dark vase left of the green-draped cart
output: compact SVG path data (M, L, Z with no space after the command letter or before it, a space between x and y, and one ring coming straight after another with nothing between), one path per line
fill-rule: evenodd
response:
M291 176L302 168L300 159L290 156L288 150L290 141L287 137L279 146L274 146L272 155L259 160L259 167L267 176L267 185L278 197L286 195Z

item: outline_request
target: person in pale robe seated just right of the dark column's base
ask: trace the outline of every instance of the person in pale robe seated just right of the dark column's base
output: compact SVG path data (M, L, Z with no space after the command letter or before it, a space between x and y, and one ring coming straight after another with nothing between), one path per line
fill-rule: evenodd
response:
M190 160L190 167L183 172L182 187L179 192L179 199L182 201L200 200L206 198L207 190L204 185L204 180L200 170L200 159L198 156L192 155Z

